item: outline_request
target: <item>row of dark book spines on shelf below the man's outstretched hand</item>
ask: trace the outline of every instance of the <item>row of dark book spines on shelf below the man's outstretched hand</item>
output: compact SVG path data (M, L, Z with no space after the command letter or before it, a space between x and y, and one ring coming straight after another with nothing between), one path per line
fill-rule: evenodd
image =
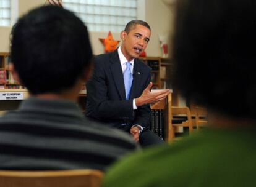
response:
M164 115L162 109L151 109L150 130L164 138Z

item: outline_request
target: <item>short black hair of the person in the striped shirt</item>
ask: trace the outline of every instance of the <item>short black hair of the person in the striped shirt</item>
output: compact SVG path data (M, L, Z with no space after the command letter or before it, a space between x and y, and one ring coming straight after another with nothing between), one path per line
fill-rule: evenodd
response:
M13 30L11 59L32 94L61 92L90 68L87 27L69 10L43 6L21 17Z

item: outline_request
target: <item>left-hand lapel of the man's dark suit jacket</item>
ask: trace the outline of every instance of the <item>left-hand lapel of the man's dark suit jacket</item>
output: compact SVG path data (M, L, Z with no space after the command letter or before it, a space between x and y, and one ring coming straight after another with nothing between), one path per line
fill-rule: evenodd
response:
M126 100L126 90L124 88L124 76L122 74L122 67L118 57L117 49L111 54L111 72L113 75L114 82L116 84L116 89L119 92L119 95L122 100Z

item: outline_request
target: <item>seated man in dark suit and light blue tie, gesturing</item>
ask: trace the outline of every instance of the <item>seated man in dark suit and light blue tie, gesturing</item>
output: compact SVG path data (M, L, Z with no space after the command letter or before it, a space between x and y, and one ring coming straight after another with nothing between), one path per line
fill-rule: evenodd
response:
M127 23L121 32L121 47L95 57L93 75L87 82L87 117L129 132L142 146L164 143L148 129L149 104L169 93L169 90L150 92L150 67L137 59L146 49L150 34L150 26L142 20ZM128 68L132 86L127 89L124 74Z

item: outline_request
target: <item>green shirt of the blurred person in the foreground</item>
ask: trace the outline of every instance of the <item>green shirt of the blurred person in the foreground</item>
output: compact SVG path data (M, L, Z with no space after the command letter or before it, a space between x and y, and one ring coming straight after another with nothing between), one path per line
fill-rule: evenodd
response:
M117 162L104 187L256 186L256 128L204 129Z

